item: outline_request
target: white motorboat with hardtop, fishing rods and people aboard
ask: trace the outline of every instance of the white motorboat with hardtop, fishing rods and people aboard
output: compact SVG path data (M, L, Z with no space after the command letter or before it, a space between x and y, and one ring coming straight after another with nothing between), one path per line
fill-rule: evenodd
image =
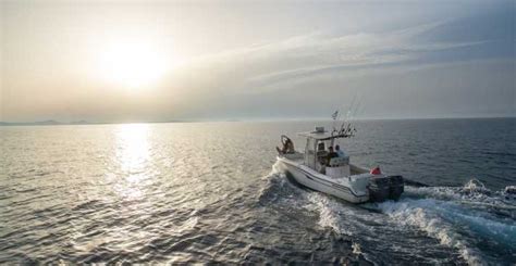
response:
M341 130L299 132L306 139L304 153L294 149L294 142L282 136L284 149L279 149L278 167L298 183L352 203L398 200L404 191L402 176L388 176L379 167L371 170L354 165L349 156L334 156L327 150L340 139L354 136L349 126ZM288 147L291 145L291 147Z

